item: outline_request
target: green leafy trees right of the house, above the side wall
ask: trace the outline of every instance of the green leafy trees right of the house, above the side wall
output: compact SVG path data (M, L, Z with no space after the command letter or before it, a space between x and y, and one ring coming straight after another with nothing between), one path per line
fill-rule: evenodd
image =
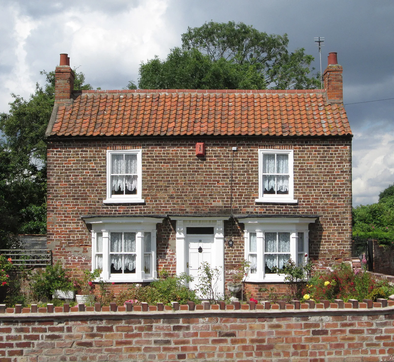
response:
M353 208L353 237L377 239L394 244L394 186L379 194L379 202Z

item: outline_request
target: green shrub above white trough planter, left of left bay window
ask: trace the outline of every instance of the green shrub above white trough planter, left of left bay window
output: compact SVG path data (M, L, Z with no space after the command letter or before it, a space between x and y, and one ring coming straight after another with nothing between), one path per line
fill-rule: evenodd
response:
M48 265L45 271L33 273L30 276L29 287L36 300L41 300L43 297L47 300L52 299L56 289L74 290L69 271L64 269L59 261L54 266Z

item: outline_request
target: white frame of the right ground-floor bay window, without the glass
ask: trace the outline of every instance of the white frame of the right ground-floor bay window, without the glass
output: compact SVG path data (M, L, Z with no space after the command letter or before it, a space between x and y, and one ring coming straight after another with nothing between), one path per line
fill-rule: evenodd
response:
M283 282L283 274L266 274L264 262L264 234L265 233L290 233L290 257L297 263L297 240L298 233L304 233L304 252L309 253L309 223L315 222L316 218L239 218L238 221L245 224L245 260L249 260L249 254L257 254L256 273L251 274L246 281L249 282ZM250 234L256 233L256 252L249 250Z

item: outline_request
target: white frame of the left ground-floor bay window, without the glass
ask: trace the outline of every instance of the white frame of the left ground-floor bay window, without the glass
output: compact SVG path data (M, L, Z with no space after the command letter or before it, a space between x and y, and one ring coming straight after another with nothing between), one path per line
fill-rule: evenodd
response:
M85 220L92 225L92 265L91 271L97 269L96 265L96 238L97 233L102 233L102 271L100 277L104 281L115 283L141 283L157 280L156 260L156 223L162 222L162 218L128 218L128 217L95 217ZM136 273L114 273L110 272L110 234L136 233ZM144 271L144 234L151 233L151 273ZM97 279L96 281L99 281Z

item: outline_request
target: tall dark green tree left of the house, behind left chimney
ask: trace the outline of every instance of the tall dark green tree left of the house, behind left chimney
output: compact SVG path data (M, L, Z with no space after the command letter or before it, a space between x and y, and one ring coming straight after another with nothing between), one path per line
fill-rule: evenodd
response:
M0 113L0 247L17 247L18 233L46 233L45 130L54 105L55 72L41 72L25 100L12 94L9 113ZM92 89L75 73L74 89Z

